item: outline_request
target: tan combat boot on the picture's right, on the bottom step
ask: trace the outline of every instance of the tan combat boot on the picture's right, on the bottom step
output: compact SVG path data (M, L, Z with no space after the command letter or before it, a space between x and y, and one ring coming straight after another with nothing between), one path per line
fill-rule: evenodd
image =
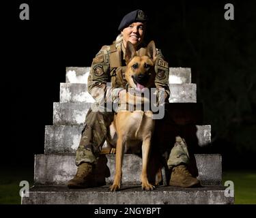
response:
M171 172L169 185L180 187L199 187L200 181L193 177L184 165L175 166Z

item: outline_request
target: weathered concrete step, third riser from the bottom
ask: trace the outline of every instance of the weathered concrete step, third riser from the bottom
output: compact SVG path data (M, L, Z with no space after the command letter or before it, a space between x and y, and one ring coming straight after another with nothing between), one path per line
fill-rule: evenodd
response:
M211 126L196 125L199 146L211 142ZM75 153L79 146L83 125L46 125L44 153Z

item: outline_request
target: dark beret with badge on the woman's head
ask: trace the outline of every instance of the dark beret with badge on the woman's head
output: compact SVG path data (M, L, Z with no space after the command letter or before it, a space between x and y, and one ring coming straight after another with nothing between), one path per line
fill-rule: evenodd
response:
M146 22L147 21L147 16L142 10L134 10L122 19L120 22L120 25L118 27L119 31L122 31L124 28L128 27L132 22Z

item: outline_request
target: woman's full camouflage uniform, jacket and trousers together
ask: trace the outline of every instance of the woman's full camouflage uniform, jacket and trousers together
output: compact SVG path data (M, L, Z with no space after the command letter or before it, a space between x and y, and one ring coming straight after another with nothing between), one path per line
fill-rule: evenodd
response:
M143 55L145 48L137 50L138 55ZM126 63L124 61L125 49L123 44L115 46L103 46L91 64L88 77L88 91L101 104L107 101L116 101L119 91L126 86L124 72ZM156 88L165 89L165 99L169 99L169 66L163 59L160 50L157 50L156 59ZM112 87L106 87L106 82L111 82ZM101 89L101 93L99 92ZM104 96L102 95L104 90ZM85 119L85 127L82 131L79 148L76 151L76 166L80 163L96 163L104 141L113 121L114 112L93 112L89 109ZM171 150L168 166L177 166L180 163L188 163L189 155L184 139L176 137L175 146Z

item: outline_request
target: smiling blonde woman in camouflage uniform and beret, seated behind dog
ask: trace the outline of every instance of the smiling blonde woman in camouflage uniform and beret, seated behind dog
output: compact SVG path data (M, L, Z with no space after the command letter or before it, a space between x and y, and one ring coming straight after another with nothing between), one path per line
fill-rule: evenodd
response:
M112 101L115 102L121 95L126 94L126 81L124 80L124 72L126 68L125 49L126 43L129 41L134 45L138 55L145 54L145 48L143 47L143 38L145 35L147 23L147 16L142 10L134 10L122 19L118 30L120 34L111 46L103 46L91 64L91 71L88 77L88 91L94 97L97 104L104 105L104 103ZM165 100L169 99L169 67L167 61L162 57L160 50L157 50L156 54L156 88L165 89ZM107 82L111 82L112 87L106 85ZM109 131L109 126L113 121L114 112L94 111L89 110L85 119L85 127L82 131L81 141L79 148L76 151L76 166L78 170L76 176L68 182L70 188L86 188L96 186L94 179L94 171L98 155L102 150L104 141ZM184 144L183 144L184 146ZM175 181L175 185L190 187L197 185L199 181L197 178L193 178L191 175L188 178L186 173L186 184L184 185L184 167L182 169L180 163L188 163L188 154L184 151L184 148L175 146L175 149L180 155L180 159L177 157L169 157L168 164L173 168L176 166L175 173L181 172L182 175L176 176L178 179L182 178L182 181ZM186 149L185 149L186 150ZM176 152L175 152L176 153ZM171 161L175 159L175 162ZM171 184L171 183L170 183Z

